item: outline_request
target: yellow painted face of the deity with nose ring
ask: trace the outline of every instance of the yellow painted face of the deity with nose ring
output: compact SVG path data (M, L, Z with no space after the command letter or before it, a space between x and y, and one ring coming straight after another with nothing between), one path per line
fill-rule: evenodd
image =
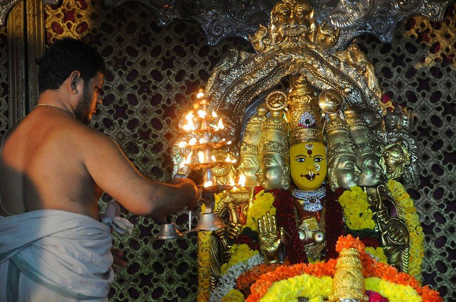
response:
M301 190L318 189L327 173L326 149L321 142L301 142L290 147L290 170Z

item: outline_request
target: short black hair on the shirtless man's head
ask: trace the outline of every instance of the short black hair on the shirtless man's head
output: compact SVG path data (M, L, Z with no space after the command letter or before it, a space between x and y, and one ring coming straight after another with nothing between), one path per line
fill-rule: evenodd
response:
M73 38L56 41L46 49L43 58L36 60L36 63L40 65L38 71L40 93L48 89L58 89L75 70L81 73L85 85L98 72L105 71L103 57L97 50Z

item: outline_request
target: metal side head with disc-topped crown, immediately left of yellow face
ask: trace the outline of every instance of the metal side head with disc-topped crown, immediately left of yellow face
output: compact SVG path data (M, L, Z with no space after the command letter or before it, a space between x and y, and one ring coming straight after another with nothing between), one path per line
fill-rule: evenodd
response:
M267 117L262 125L259 146L261 184L267 189L288 189L290 187L288 125L283 117L287 96L282 91L273 91L265 98L264 105L271 111L271 116Z

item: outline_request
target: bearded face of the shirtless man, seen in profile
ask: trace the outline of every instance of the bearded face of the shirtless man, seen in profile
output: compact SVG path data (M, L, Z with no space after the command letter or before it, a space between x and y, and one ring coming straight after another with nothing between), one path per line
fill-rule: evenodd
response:
M97 73L88 83L84 83L84 91L74 114L84 124L89 124L101 104L100 90L103 86L103 74Z

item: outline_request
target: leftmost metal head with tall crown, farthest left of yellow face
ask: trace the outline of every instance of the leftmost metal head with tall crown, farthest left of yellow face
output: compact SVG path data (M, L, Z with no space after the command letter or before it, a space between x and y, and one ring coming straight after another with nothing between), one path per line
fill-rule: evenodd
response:
M264 107L264 104L260 104L257 108L257 113L247 123L244 138L239 149L240 165L238 167L238 178L239 175L244 175L245 186L249 188L258 186L260 184L258 179L262 177L258 145L261 141L261 127L266 120L265 115L267 113L268 110Z

